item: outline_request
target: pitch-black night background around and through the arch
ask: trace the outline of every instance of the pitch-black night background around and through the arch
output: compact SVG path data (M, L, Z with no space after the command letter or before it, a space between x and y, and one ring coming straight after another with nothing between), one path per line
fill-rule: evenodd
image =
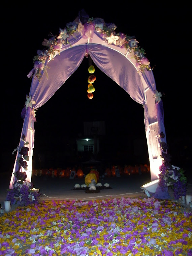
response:
M99 3L98 3L99 4ZM21 111L31 79L33 57L43 50L42 41L50 32L78 16L84 8L93 18L114 23L116 32L135 36L150 61L164 106L164 123L172 155L172 164L189 168L191 163L191 49L189 6L128 3L84 5L71 3L33 3L2 8L2 115L1 172L12 172L23 119ZM94 64L93 64L94 65ZM38 155L46 157L46 168L72 164L69 152L75 151L75 139L83 135L84 121L105 121L99 160L107 164L148 164L144 112L114 81L95 66L94 98L87 97L89 61L84 58L55 95L36 112L34 166ZM72 167L72 166L71 166Z

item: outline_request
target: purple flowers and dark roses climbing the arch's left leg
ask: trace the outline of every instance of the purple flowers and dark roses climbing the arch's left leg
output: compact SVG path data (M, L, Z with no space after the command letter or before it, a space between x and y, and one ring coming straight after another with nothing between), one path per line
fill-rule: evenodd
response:
M40 196L39 189L35 189L32 182L26 181L27 174L24 170L27 170L27 161L29 161L28 151L29 148L26 147L28 142L25 142L25 135L22 135L22 140L24 141L24 146L19 147L13 151L13 154L18 150L18 166L19 169L14 172L14 176L17 180L13 184L13 189L8 189L6 200L10 200L11 204L18 204L20 206L27 206L32 203L38 203L38 198Z

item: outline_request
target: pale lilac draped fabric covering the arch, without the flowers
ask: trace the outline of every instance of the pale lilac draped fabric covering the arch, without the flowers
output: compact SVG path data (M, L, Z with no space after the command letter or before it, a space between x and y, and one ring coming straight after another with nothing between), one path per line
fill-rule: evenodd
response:
M31 100L35 101L35 104L33 104L34 109L39 109L55 94L75 72L79 65L81 65L86 54L89 54L94 64L121 86L133 100L143 105L151 166L154 159L153 154L156 155L156 159L160 159L160 150L159 142L156 140L151 141L154 137L149 136L150 124L158 122L155 126L156 134L159 134L161 131L165 134L162 102L156 105L155 99L153 98L154 91L156 90L153 72L146 70L145 73L141 74L136 66L135 60L132 58L131 54L127 54L125 47L107 44L96 31L91 39L82 37L80 33L75 32L74 36L69 38L69 44L63 45L60 53L56 54L52 60L45 63L48 77L46 73L42 71L41 82L39 82L38 79L32 79L29 96L31 96ZM32 155L33 148L35 147L35 121L34 110L28 107L21 132L21 137L22 134L25 134L26 140L29 141L29 161L27 162L28 181L31 181ZM23 146L22 143L22 140L20 140L19 146ZM156 149L153 153L152 149L154 145ZM17 156L9 185L10 189L13 188L15 179L13 173L17 171L18 168ZM154 171L157 172L157 166L154 168ZM152 171L151 168L151 172ZM151 175L152 180L155 179L155 177L156 176Z

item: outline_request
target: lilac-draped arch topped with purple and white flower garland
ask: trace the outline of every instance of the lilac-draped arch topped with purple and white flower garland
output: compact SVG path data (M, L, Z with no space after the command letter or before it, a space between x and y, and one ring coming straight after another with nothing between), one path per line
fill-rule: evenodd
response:
M42 45L46 48L37 51L34 67L27 75L32 78L32 83L21 114L24 123L9 189L13 188L16 180L13 173L19 166L26 172L26 180L31 182L36 109L64 85L88 56L133 100L143 105L151 181L159 178L159 166L163 163L162 143L166 143L162 95L156 90L145 51L134 37L116 33L116 28L115 24L107 24L101 18L89 18L81 10L73 22L67 23L64 29L60 28L59 35L44 39ZM27 154L23 152L24 147L27 147Z

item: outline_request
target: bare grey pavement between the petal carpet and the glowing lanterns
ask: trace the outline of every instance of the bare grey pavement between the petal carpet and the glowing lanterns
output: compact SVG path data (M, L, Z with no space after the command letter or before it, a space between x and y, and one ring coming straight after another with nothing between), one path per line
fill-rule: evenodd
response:
M3 176L3 175L1 175ZM75 184L85 184L84 178L58 178L46 176L33 176L32 183L36 189L40 189L40 200L91 200L102 198L117 198L117 197L148 197L140 187L151 182L150 173L134 174L127 177L111 177L100 178L99 183L103 186L108 183L111 189L101 189L99 193L86 193L85 190L74 190ZM0 203L4 205L7 189L9 187L10 177L4 174L0 182ZM171 200L173 192L171 188L168 190ZM192 195L192 184L188 184L187 195ZM185 205L186 207L189 207ZM15 209L11 205L11 210Z

